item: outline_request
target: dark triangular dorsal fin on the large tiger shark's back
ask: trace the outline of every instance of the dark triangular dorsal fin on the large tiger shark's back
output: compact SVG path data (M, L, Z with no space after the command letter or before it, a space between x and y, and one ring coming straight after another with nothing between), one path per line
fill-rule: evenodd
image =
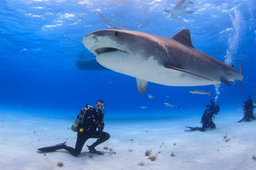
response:
M183 29L182 31L175 34L172 37L172 39L176 40L177 42L180 42L183 45L186 45L187 47L194 48L191 42L189 29Z

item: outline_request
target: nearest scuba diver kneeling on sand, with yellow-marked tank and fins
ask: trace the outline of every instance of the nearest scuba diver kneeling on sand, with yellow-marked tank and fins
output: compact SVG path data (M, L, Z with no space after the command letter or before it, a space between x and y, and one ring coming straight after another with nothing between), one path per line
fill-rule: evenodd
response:
M114 152L104 152L97 151L95 147L110 138L109 133L103 132L104 128L104 105L102 100L96 102L95 108L89 106L88 104L81 109L77 116L76 121L72 125L71 129L77 132L76 147L69 147L66 142L56 144L55 146L42 147L38 150L42 152L53 152L59 149L65 149L70 152L73 156L78 156L84 146L84 143L90 138L97 138L96 142L88 146L90 153L95 153L98 155L103 155L104 153L114 153ZM98 130L97 130L98 129Z

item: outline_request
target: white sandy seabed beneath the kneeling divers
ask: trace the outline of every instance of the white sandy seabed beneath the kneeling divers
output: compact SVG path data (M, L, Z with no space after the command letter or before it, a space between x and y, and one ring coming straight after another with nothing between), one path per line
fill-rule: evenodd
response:
M241 114L221 113L217 126L205 132L184 132L185 126L201 126L200 116L189 119L148 122L105 122L111 138L96 147L113 148L115 154L89 158L86 145L78 157L66 150L43 153L37 148L67 141L74 147L76 133L69 130L73 119L50 116L24 116L23 113L0 112L0 170L255 170L256 121L236 123ZM224 142L224 136L230 139ZM132 139L132 140L131 140ZM90 139L86 144L92 144ZM174 143L176 145L174 146ZM133 150L133 151L128 151ZM156 161L145 156L152 150ZM175 157L170 156L175 153ZM62 161L63 167L57 162ZM145 162L139 166L139 162Z

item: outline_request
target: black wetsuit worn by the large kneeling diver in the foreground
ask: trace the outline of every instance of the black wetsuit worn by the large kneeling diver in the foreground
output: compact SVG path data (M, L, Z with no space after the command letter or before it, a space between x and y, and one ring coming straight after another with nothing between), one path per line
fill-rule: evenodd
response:
M84 119L77 126L78 133L76 147L64 146L63 149L69 151L72 155L77 156L81 153L84 143L88 139L97 138L96 142L90 146L91 148L108 140L110 138L109 133L102 131L104 128L103 116L104 113L96 112L93 108L88 109L84 114Z

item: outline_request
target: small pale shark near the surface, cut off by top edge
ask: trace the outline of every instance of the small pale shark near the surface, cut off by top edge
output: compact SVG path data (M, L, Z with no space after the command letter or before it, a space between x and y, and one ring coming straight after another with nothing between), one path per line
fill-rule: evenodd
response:
M165 12L171 13L171 18L174 20L177 17L179 17L181 14L188 14L193 13L194 11L186 11L185 8L188 5L188 3L192 2L190 0L179 0L177 5L174 7L173 10L164 10Z

